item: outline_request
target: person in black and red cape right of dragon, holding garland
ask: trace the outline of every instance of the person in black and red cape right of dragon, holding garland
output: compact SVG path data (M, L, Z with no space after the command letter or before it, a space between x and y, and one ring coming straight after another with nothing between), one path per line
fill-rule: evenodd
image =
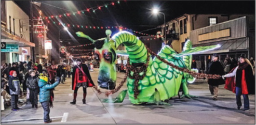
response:
M236 93L237 109L241 109L242 95L244 98L244 110L250 111L248 94L255 94L255 82L250 61L244 55L239 56L238 66L222 77L223 79L226 77L224 88Z

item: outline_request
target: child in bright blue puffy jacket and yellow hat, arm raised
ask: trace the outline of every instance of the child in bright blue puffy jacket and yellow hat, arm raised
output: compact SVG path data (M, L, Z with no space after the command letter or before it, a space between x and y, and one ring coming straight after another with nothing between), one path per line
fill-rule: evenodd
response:
M44 122L50 123L50 106L52 107L52 101L53 101L53 91L52 88L56 87L59 82L60 78L57 77L57 81L53 84L48 84L48 77L47 76L39 76L40 80L38 82L38 86L40 89L39 92L39 101L42 104L42 107L44 109Z

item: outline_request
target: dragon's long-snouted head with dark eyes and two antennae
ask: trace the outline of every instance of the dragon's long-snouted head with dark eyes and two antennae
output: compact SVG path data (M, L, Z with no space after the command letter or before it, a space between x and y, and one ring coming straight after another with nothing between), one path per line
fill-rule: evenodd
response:
M98 85L104 89L115 89L116 86L116 46L110 38L111 30L106 30L106 38L97 40L91 39L83 32L76 32L78 37L84 37L93 42L95 45L95 58L100 63Z

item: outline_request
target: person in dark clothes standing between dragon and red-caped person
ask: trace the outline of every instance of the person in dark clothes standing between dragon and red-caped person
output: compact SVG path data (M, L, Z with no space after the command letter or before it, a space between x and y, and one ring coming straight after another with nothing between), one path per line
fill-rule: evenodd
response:
M218 61L219 55L214 53L212 55L212 61L208 64L206 69L206 74L218 74L220 76L224 75L224 70L221 62ZM208 79L209 90L214 101L217 100L219 85L225 84L223 79Z

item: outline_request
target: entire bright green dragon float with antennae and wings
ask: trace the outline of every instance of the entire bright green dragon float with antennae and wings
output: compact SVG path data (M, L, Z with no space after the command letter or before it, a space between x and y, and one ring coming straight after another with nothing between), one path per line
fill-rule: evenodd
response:
M219 45L211 45L192 48L192 42L187 40L183 52L177 54L170 46L165 45L157 54L157 56L164 59L162 61L156 57L152 59L149 53L150 50L146 48L137 36L129 32L122 31L110 38L111 30L106 30L107 37L98 40L91 39L83 32L77 32L76 35L91 40L95 45L95 58L100 63L98 85L101 88L116 89L116 57L118 54L128 54L128 65L130 66L127 73L128 90L120 92L112 102L123 102L128 91L128 97L132 104L155 103L157 105L170 105L163 101L178 95L180 87L182 87L182 97L193 97L188 93L187 82L194 82L195 77L181 70L174 69L163 61L166 60L179 68L198 72L195 69L191 69L191 54L219 47ZM116 50L120 44L126 46L126 51ZM118 90L114 92L116 91ZM107 102L107 100L103 101Z

